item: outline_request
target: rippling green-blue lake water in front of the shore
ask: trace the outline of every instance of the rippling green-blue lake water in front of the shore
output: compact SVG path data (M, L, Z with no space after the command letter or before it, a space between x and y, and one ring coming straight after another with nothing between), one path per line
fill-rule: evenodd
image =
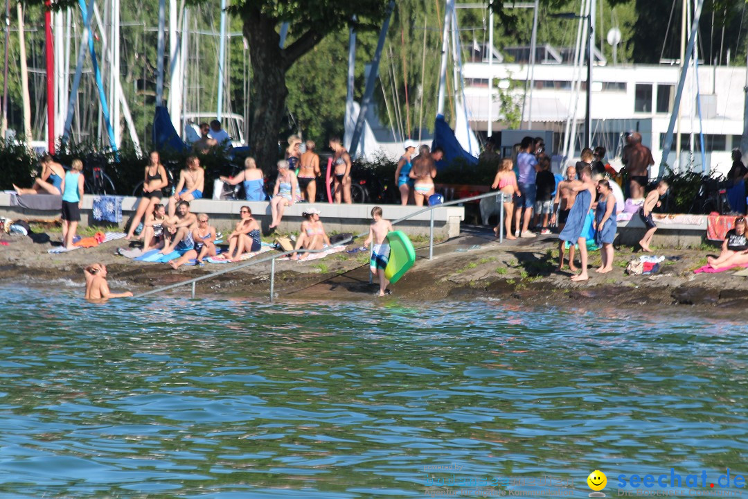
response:
M595 469L611 497L670 468L746 490L745 311L50 288L0 288L0 498L586 497Z

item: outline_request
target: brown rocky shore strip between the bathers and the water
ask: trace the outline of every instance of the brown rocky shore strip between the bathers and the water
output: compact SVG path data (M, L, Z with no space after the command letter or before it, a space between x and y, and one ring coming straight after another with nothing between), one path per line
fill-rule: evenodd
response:
M34 244L26 236L6 235L0 246L0 279L5 284L49 286L49 283L81 283L82 268L102 262L108 266L113 289L126 287L134 293L186 281L227 269L229 265L183 267L173 271L165 264L141 263L114 254L124 240L97 248L64 254L48 254L49 244ZM421 243L423 245L423 243ZM352 245L351 248L354 248ZM487 233L465 234L435 246L428 260L428 246L417 251L418 260L387 299L406 301L500 299L517 304L589 303L620 307L697 305L731 308L748 306L748 281L734 272L694 275L706 263L707 254L718 248L658 248L655 254L676 257L661 264L652 276L625 275L628 260L640 253L616 248L613 272L592 272L599 252L591 254L590 280L572 282L571 272L558 272L555 236L505 241L499 244ZM265 255L263 255L264 257ZM368 253L342 252L320 260L296 263L278 260L275 293L282 300L374 300L369 284ZM197 284L197 296L233 296L266 301L269 297L270 263L260 263ZM189 293L188 287L166 293Z

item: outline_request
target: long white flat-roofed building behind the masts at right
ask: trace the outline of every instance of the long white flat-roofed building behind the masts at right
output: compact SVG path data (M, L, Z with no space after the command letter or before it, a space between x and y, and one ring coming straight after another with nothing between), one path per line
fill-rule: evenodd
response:
M488 78L493 77L492 129L500 130L499 92L511 92L521 102L524 85L530 79L530 64L523 64L529 50L514 49L515 63L494 64L489 72L487 59L466 63L463 70L465 96L470 110L470 125L473 130L488 128ZM554 153L559 151L567 117L577 106L577 131L583 133L586 113L586 67L568 64L568 51L557 51L550 46L539 46L534 70L532 92L527 92L522 128L527 128L528 118L532 129L554 132ZM506 52L505 52L506 54ZM506 57L504 58L507 59ZM581 79L580 92L574 97L572 91L574 73ZM602 145L615 156L621 133L634 130L643 136L643 144L652 148L655 162L662 157L662 145L669 124L670 114L678 87L680 69L677 64L666 65L616 65L608 66L601 55L596 54L592 72L592 143ZM512 83L513 81L513 83ZM704 66L699 64L698 85L701 97L701 116L696 105L696 77L693 68L688 73L681 99L681 169L690 162L690 134L694 133L696 151L693 169L702 169L699 129L705 134L706 164L712 171L726 173L732 160L730 151L739 147L743 133L744 85L746 68L729 66ZM497 88L497 86L501 88ZM512 90L504 89L512 88ZM530 114L531 112L531 114ZM676 126L676 131L677 131ZM571 156L580 151L580 139L574 141ZM672 153L666 161L675 165L675 138ZM708 170L708 168L707 168ZM655 171L652 174L656 174Z

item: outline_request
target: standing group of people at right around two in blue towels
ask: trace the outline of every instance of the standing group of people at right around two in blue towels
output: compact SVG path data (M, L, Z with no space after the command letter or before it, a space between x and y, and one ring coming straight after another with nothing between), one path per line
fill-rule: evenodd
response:
M506 232L507 239L532 238L538 233L549 235L555 225L560 239L558 269L564 269L568 250L569 269L580 270L571 279L586 281L589 233L594 233L594 242L601 248L601 266L595 272L610 272L618 215L628 209L645 224L640 246L643 251L651 252L650 243L657 230L652 211L660 206L660 198L666 195L669 186L661 180L646 194L654 159L649 148L641 143L638 132L628 136L623 154L625 174L630 181L626 186L628 200L624 199L618 183L622 176L604 163L605 154L604 147L584 149L581 160L568 165L557 179L551 173L551 159L545 153L542 138L523 138L514 161L501 159L489 145L481 158L498 165L491 189L497 190L497 202L503 204L505 213L505 226L494 227L496 236L500 230ZM577 249L580 268L574 263Z

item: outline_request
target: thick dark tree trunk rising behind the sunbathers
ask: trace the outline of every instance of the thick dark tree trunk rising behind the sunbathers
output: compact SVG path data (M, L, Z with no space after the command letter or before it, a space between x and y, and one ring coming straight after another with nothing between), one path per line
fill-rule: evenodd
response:
M248 4L251 2L247 2ZM242 12L244 35L249 40L252 61L254 113L248 140L257 166L266 173L278 161L278 131L286 108L286 64L275 25L245 7Z

